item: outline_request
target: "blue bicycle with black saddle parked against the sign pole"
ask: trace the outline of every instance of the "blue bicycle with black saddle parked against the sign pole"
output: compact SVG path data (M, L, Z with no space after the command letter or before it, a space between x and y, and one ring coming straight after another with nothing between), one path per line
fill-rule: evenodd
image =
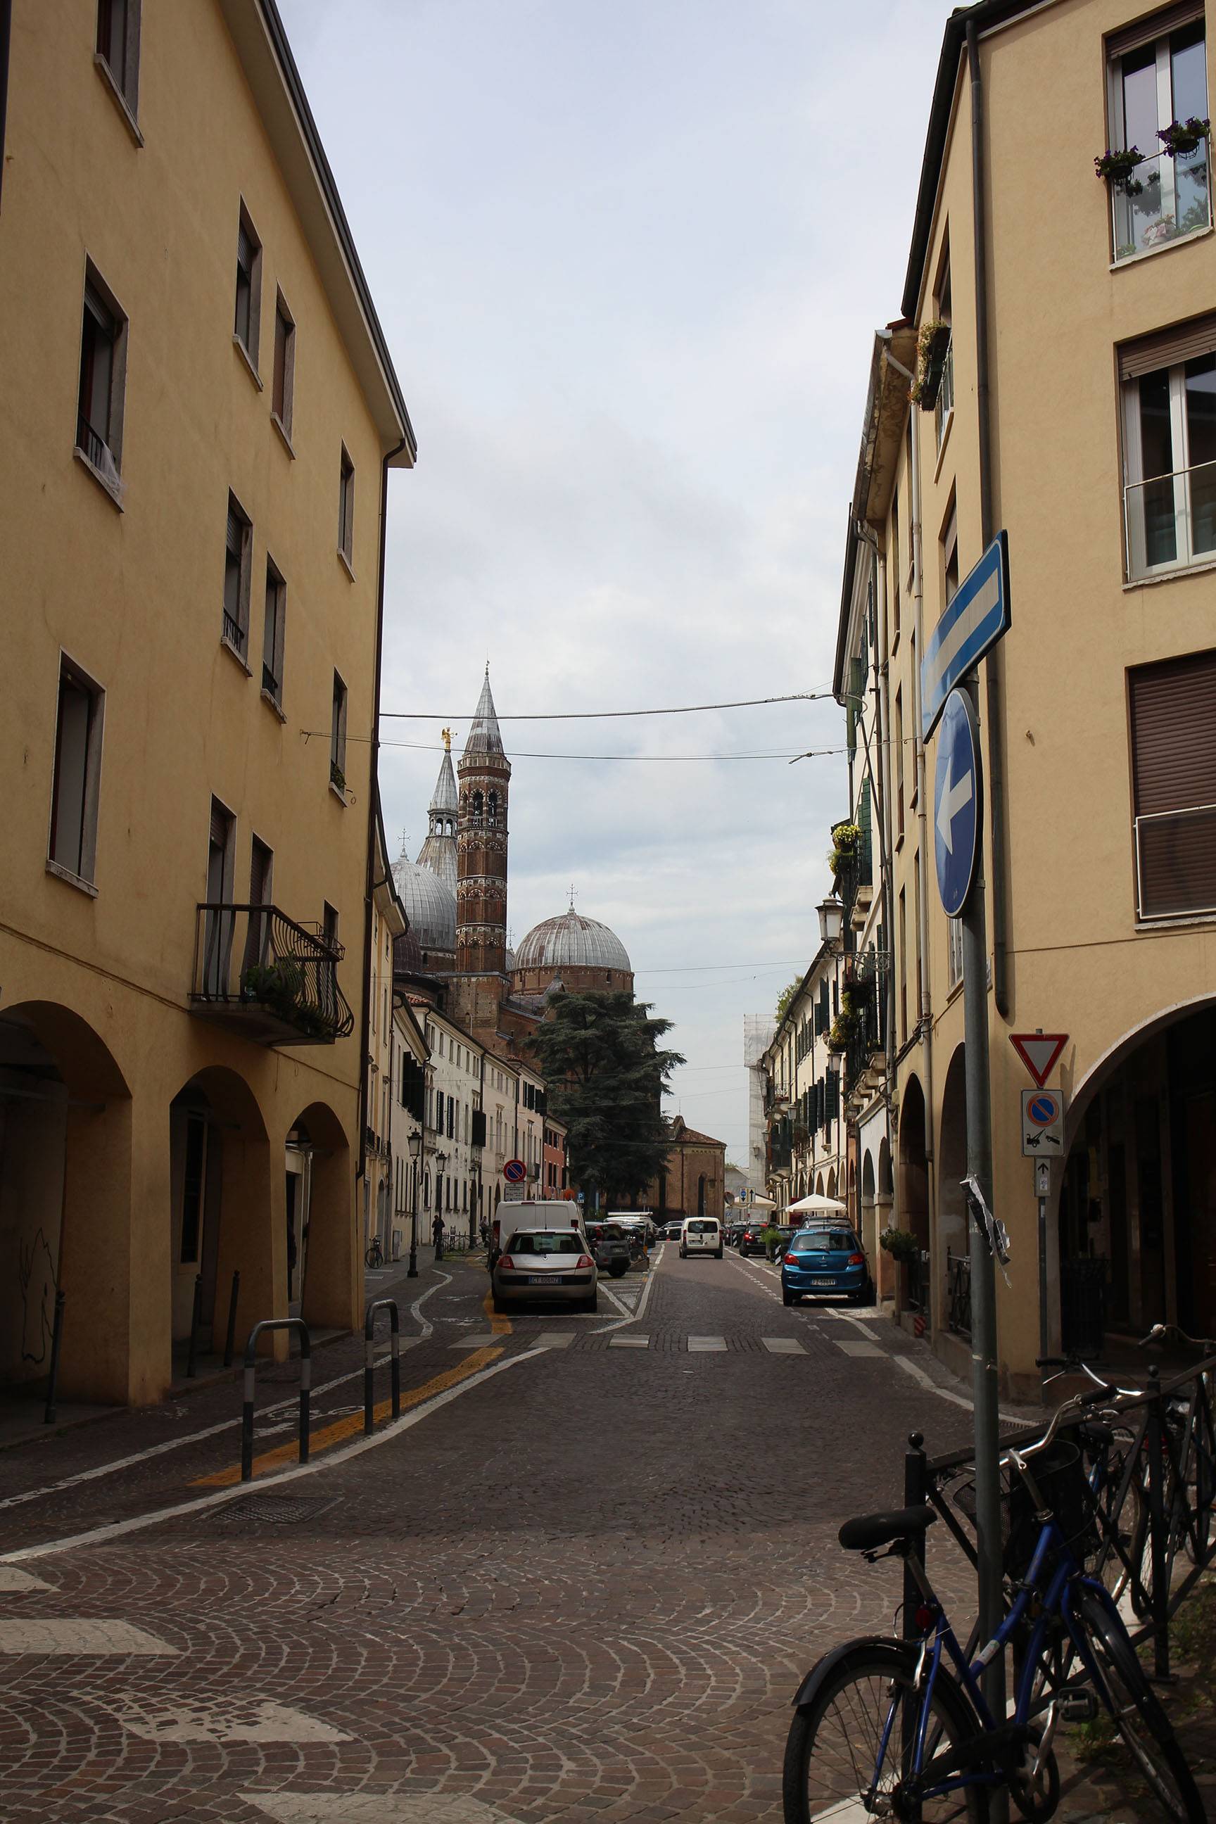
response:
M975 1634L966 1653L959 1647L924 1569L932 1505L840 1527L840 1545L868 1563L902 1560L921 1601L908 1618L912 1638L853 1640L804 1678L782 1771L786 1824L833 1815L981 1820L995 1788L1006 1788L1032 1824L1046 1824L1059 1804L1056 1731L1061 1722L1097 1720L1099 1705L1167 1817L1201 1824L1203 1800L1170 1722L1110 1592L1085 1570L1096 1538L1092 1492L1081 1448L1057 1434L1110 1392L1067 1401L1037 1443L1001 1456L1010 1600L983 1651L974 1653ZM1036 1457L1043 1461L1032 1468ZM1014 1707L997 1722L979 1680L1010 1645Z

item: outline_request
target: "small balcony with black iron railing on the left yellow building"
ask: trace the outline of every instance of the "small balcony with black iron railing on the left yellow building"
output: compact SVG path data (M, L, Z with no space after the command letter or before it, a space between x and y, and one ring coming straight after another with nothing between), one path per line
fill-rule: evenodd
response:
M277 907L197 907L191 1010L253 1045L332 1045L356 1016L337 987L343 947Z

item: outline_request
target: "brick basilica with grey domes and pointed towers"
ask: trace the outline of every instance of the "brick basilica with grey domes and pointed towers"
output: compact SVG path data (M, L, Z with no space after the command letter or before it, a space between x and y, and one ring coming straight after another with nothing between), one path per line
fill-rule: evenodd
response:
M417 861L403 852L392 868L410 927L396 939L394 976L479 1043L518 1052L554 994L633 992L633 967L620 938L572 905L534 925L516 950L507 945L510 761L489 666L456 768L450 748L445 730Z

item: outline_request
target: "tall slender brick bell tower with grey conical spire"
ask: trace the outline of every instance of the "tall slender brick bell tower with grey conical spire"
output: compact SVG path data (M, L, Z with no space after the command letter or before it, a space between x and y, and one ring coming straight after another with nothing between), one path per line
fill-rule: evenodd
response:
M474 1032L494 1032L507 978L507 795L510 761L503 753L490 668L456 768L456 979L458 1018Z

